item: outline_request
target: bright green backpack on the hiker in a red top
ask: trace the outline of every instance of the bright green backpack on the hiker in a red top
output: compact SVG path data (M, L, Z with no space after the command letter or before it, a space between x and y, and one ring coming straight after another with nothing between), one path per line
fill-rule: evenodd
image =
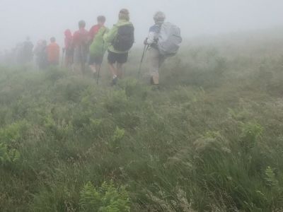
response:
M89 53L93 57L101 57L105 54L106 50L108 49L108 44L104 42L103 36L105 33L108 32L108 28L104 26L98 30L98 33L93 38L93 42L89 47Z

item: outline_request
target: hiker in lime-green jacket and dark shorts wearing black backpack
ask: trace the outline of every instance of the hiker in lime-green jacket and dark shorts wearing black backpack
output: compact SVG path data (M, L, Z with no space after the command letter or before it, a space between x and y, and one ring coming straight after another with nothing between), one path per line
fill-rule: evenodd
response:
M122 65L127 62L129 49L134 44L134 26L129 22L129 11L122 9L119 20L113 28L104 35L108 47L108 64L112 73L112 85L122 77Z

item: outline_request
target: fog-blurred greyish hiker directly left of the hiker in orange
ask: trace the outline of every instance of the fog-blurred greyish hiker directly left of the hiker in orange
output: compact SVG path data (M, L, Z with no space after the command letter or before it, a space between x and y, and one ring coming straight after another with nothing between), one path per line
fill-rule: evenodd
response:
M47 42L46 40L39 40L34 49L35 61L39 69L47 67Z

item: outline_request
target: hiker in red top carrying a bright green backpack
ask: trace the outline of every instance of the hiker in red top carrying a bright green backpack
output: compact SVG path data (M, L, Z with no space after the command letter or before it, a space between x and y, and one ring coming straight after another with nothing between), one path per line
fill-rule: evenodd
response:
M98 16L98 24L94 25L90 30L90 37L93 37L91 46L89 47L89 59L88 65L95 74L100 70L100 66L103 61L103 56L108 47L103 40L103 35L108 32L108 28L105 28L105 16Z

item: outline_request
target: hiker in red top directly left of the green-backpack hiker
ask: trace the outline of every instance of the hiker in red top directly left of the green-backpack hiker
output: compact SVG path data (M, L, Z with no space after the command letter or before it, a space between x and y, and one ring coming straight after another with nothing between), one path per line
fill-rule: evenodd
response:
M74 47L74 71L83 73L85 71L86 61L88 57L88 31L86 22L79 21L79 30L74 33L73 47Z

